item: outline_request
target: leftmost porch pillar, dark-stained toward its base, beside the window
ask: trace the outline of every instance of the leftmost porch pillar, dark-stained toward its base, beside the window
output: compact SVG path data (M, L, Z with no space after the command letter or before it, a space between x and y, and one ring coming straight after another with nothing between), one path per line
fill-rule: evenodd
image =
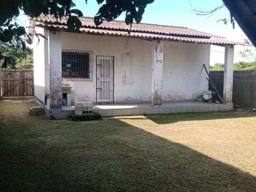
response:
M48 30L50 109L62 108L61 32Z

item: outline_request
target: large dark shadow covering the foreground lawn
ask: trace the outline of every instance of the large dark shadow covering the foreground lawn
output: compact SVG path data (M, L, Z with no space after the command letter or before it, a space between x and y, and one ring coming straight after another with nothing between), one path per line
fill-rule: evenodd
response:
M0 170L8 192L256 190L254 176L120 120L5 125Z

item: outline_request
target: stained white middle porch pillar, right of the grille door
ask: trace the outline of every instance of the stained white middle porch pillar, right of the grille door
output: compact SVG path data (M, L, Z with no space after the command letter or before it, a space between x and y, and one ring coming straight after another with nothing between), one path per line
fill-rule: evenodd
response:
M153 41L152 57L152 106L162 104L164 43Z

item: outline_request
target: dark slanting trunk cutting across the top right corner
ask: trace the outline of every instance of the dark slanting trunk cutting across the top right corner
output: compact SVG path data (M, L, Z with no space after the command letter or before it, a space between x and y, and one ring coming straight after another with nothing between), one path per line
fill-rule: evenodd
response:
M222 0L249 40L256 46L256 1Z

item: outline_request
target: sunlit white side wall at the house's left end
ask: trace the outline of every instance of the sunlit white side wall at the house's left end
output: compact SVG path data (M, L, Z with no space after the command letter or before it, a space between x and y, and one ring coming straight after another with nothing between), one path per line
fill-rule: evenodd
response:
M36 27L35 31L47 37L47 30ZM44 102L45 87L47 87L49 81L49 77L45 76L45 71L48 70L48 42L40 36L38 38L34 37L32 45L34 59L34 95L41 102Z

